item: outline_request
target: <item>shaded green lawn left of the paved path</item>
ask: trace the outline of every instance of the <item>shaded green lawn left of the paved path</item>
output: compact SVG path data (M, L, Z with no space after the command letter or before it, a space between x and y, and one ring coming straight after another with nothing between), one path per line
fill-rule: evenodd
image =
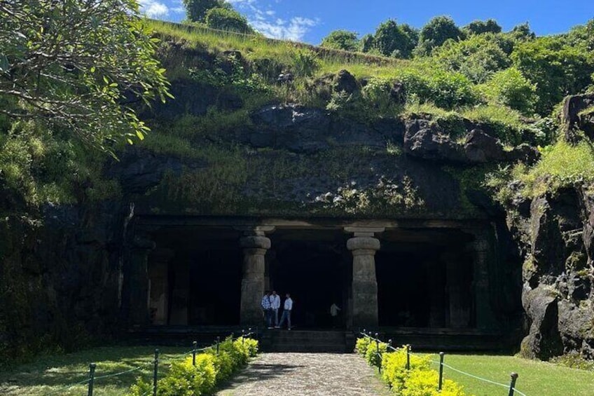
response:
M160 373L167 362L180 359L179 354L189 348L158 347ZM64 355L40 356L35 362L23 364L0 373L0 395L3 396L81 396L87 395L87 384L65 388L88 378L89 363L96 362L95 376L116 374L137 367L142 369L121 376L99 378L95 381L94 396L125 395L137 376L152 378L154 346L118 346L83 350Z

